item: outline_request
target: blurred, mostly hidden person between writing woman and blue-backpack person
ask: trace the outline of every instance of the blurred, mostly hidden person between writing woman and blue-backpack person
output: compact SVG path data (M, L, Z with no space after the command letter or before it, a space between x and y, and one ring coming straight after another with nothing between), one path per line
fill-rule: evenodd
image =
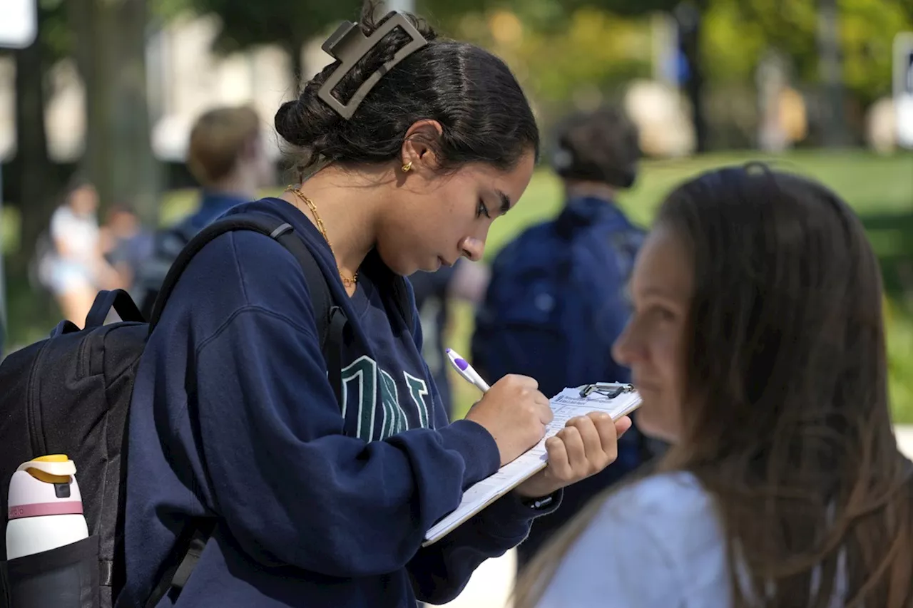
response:
M445 336L451 299L477 305L485 297L490 272L484 262L459 258L453 266L441 267L436 272L416 272L409 277L415 290L415 307L422 321L425 343L422 356L435 378L437 391L447 414L453 418L453 394L450 387L446 358Z

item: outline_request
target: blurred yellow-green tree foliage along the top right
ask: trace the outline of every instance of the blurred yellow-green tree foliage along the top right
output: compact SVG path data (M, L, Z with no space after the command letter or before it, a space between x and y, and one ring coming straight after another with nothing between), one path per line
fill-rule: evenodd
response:
M701 16L698 44L689 51L705 83L688 90L692 103L711 89L753 89L761 58L776 49L789 59L792 82L819 88L820 0L694 0ZM582 88L611 91L626 77L648 73L651 48L643 44L646 18L676 14L680 0L419 0L420 12L443 21L507 58L534 97L560 106ZM837 0L843 86L866 107L891 89L891 45L913 30L910 0ZM499 41L493 16L503 11L522 24L518 42ZM624 17L624 18L623 18ZM500 19L505 22L505 19ZM636 33L635 33L636 32ZM694 84L694 83L692 83Z

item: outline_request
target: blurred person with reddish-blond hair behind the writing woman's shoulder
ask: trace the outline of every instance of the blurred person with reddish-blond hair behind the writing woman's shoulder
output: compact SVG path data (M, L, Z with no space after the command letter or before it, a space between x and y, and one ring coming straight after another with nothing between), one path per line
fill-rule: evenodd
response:
M264 137L257 112L247 106L214 108L194 123L187 167L202 186L200 206L155 237L152 257L142 265L136 285L147 319L168 268L190 239L236 204L256 200L258 190L273 182Z

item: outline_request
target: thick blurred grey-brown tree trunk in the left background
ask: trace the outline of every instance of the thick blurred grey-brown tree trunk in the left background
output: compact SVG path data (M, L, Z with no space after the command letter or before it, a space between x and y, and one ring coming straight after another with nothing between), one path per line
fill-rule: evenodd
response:
M86 84L83 166L101 204L132 204L158 224L159 166L146 99L146 0L70 0Z

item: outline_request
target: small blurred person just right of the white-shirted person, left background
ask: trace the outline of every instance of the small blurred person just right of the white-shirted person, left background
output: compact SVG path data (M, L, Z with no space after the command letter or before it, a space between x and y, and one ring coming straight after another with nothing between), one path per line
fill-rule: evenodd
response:
M101 243L105 259L118 273L119 287L130 291L140 267L152 256L152 231L142 225L130 206L115 204L101 226Z

